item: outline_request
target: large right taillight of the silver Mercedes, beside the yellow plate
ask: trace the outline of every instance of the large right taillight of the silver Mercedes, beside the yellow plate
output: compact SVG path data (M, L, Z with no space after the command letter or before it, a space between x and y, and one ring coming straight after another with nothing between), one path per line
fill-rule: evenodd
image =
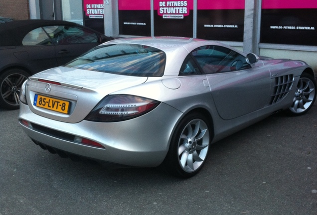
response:
M160 103L155 100L129 95L105 97L85 118L89 121L122 121L143 115L156 108Z

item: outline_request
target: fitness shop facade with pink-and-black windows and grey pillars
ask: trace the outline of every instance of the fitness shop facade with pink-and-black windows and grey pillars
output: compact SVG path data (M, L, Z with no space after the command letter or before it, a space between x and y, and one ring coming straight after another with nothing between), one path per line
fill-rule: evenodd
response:
M217 40L244 52L305 60L317 71L316 0L48 0L52 12L46 14L38 12L45 6L40 2L29 0L31 18L75 21L108 36Z

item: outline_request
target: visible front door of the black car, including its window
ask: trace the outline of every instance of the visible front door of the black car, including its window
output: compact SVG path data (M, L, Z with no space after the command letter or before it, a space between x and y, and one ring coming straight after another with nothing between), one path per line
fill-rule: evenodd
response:
M59 65L99 45L99 38L95 32L79 26L47 26L44 29L55 45L55 55Z

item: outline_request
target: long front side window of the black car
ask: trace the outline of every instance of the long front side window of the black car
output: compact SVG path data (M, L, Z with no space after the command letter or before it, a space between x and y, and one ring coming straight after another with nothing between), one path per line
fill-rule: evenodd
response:
M44 29L55 45L98 42L96 33L77 26L46 26Z

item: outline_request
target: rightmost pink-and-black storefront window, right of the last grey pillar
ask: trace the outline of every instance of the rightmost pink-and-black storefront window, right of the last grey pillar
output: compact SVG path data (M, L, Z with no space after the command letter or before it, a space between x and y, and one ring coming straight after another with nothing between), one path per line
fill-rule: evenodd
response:
M317 46L316 0L262 0L261 43Z

